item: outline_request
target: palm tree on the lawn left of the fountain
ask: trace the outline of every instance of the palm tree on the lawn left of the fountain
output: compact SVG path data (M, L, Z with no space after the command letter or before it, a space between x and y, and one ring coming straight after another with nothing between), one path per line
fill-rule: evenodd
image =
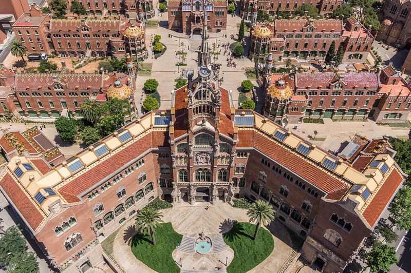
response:
M154 237L154 231L157 225L164 223L160 218L163 217L161 212L158 212L155 208L145 208L137 215L136 229L138 232L144 234L150 233L153 245L156 245L156 238Z

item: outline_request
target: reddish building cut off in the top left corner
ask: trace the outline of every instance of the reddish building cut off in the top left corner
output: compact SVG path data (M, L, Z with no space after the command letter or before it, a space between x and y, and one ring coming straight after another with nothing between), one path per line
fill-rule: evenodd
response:
M12 25L18 17L29 11L27 0L3 0L0 10L0 44L11 35Z

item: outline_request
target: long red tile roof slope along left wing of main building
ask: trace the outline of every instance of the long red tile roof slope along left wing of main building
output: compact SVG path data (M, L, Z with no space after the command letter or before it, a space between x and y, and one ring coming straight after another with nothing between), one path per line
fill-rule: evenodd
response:
M67 184L58 189L58 191L65 196L78 196L80 193L91 188L101 180L109 177L122 166L132 161L138 155L147 151L152 147L152 133L148 133L135 143L127 146L123 150L112 155L108 159L102 161L97 166L87 170L86 172L74 178ZM66 199L67 202L69 200Z

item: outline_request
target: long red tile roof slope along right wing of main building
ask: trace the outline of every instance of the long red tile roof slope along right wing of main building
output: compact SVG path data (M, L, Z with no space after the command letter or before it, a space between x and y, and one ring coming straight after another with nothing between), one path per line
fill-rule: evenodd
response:
M254 133L254 147L260 152L266 154L272 160L290 170L293 170L295 174L309 181L326 193L339 191L340 196L343 196L344 190L349 189L347 184L332 177L324 169L305 161L285 147L270 141L265 136L257 132Z

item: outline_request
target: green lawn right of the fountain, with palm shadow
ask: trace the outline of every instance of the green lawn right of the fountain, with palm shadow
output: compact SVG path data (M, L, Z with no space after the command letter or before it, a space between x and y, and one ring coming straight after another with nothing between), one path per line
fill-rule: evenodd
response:
M271 233L260 228L253 241L255 225L235 222L233 228L223 234L224 241L234 250L234 259L227 267L228 272L247 272L263 262L274 249Z

